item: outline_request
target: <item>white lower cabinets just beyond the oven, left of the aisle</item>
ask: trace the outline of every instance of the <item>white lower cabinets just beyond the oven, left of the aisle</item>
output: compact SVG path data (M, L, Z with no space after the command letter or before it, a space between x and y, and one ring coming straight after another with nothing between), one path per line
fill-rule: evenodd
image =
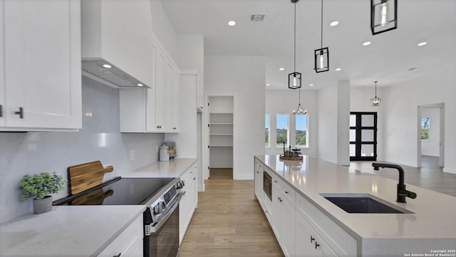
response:
M179 204L179 243L185 236L188 225L198 204L198 166L192 165L180 178L185 186L182 188L182 199Z

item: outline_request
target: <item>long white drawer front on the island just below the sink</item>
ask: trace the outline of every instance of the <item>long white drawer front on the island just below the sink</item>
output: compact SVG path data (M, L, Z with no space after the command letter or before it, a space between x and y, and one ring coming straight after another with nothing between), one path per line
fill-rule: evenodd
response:
M338 256L356 256L356 239L301 195L296 196L296 211L306 219Z

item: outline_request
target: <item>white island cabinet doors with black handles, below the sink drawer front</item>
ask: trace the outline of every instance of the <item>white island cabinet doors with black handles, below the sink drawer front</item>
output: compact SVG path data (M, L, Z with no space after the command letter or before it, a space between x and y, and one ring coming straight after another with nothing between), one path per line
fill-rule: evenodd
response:
M296 256L337 256L301 215L296 214Z

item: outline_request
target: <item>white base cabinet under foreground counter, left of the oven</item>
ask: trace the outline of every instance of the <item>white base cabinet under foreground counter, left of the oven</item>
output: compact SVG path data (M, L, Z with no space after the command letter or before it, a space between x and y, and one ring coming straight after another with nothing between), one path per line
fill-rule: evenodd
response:
M127 256L140 257L143 255L143 225L142 215L138 216L127 229L114 239L98 257Z

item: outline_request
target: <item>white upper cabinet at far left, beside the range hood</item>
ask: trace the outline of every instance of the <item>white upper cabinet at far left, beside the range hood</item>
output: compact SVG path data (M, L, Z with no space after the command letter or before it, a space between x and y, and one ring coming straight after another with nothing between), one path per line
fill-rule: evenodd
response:
M0 0L0 130L81 128L80 5Z

